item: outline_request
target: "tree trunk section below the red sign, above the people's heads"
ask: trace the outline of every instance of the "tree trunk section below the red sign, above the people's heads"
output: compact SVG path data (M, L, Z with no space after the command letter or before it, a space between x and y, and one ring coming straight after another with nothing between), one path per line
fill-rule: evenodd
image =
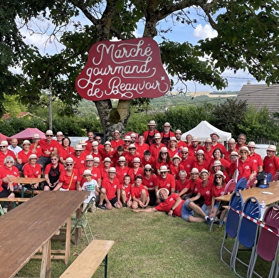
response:
M119 100L117 108L112 108L111 100L95 102L98 109L105 140L111 140L113 132L125 134L125 127L130 118L130 100Z

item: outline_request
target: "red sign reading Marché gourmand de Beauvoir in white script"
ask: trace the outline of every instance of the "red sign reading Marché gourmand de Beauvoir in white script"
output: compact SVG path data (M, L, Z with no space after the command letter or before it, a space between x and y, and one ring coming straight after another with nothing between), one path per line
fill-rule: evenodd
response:
M80 96L94 101L162 97L169 86L159 46L152 38L95 43L75 80Z

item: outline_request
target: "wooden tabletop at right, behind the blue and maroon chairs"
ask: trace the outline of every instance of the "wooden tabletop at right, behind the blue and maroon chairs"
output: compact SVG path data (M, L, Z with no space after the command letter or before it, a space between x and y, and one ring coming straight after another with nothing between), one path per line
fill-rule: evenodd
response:
M255 197L259 203L265 201L265 204L271 204L279 201L279 181L271 181L269 183L269 188L248 188L243 191L239 191L245 202L249 197ZM272 194L268 194L272 193ZM229 202L231 199L231 194L219 196L215 198L217 201Z

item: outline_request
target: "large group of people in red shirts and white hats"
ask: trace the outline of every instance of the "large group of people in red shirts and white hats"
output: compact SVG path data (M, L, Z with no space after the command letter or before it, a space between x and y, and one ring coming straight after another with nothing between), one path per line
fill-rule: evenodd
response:
M253 141L246 145L244 134L237 141L228 140L227 150L217 133L209 134L201 145L195 134L187 134L182 141L181 130L172 132L169 122L163 129L158 132L151 120L143 134L121 139L115 130L113 139L104 144L88 132L87 141L71 146L63 132L57 132L55 140L51 130L46 139L34 134L32 143L24 140L23 149L16 139L10 146L1 141L0 197L13 197L14 187L20 186L11 183L9 176L19 176L19 171L25 177L43 173L42 190L92 191L90 198L95 197L102 210L163 210L189 222L211 223L218 208L215 198L223 194L231 178L252 181L261 171L272 175L279 171L276 147L268 146L262 160Z

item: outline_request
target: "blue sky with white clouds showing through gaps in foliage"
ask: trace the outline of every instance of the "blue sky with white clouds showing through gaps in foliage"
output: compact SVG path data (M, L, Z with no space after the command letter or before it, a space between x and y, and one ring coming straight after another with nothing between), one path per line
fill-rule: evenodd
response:
M172 31L164 34L164 36L178 43L184 43L185 41L188 41L189 43L196 44L196 42L201 39L214 38L217 35L216 31L214 31L214 29L211 28L211 26L209 26L206 21L204 21L201 17L196 16L195 9L189 9L189 11L191 12L191 15L194 14L194 17L197 18L197 22L194 27L181 23L176 23L176 25L174 26L172 21L167 18L166 20L161 21L158 29L172 28ZM84 16L78 16L78 18L75 19L76 21L80 21L80 23L90 24L90 22L87 21ZM39 31L39 28L45 29L46 33L43 35L35 33L30 36L26 28L21 28L21 33L23 34L23 36L26 37L26 43L37 46L42 54L58 53L59 50L63 48L63 46L60 45L60 43L58 43L57 41L48 40L48 33L52 31L52 26L41 26L41 24L42 21L33 21L31 23L31 26L37 31ZM40 25L40 27L37 25ZM135 31L135 36L139 38L142 36L143 25L139 23L137 27L138 28L137 31ZM68 26L68 29L70 29L70 26ZM157 41L157 43L160 43L162 41L162 38L160 36L157 36L154 38L154 40ZM14 71L20 71L20 69L16 69ZM241 90L241 87L243 85L247 84L248 81L250 81L253 85L258 84L256 79L252 75L243 72L243 70L238 70L236 74L233 73L233 70L225 70L225 72L222 73L222 76L226 77L228 80L228 87L226 87L226 89L224 90L239 91ZM260 82L260 84L264 84L264 82ZM188 92L208 92L216 90L215 87L211 87L209 85L204 86L199 84L199 82L189 81L186 82L186 85Z

